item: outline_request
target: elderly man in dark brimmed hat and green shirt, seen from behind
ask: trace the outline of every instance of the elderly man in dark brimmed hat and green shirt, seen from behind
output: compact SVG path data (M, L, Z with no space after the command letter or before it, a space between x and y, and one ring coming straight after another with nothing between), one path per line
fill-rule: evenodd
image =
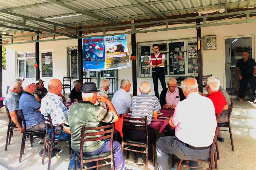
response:
M118 120L118 116L111 101L104 96L97 97L96 84L93 82L86 82L82 88L83 101L75 103L70 106L68 120L65 121L65 129L71 131L71 147L75 152L80 151L80 139L81 139L81 126L85 125L88 127L102 126L101 122L115 122ZM94 105L96 100L99 102L107 103L109 112L104 108ZM100 132L95 130L95 132ZM91 142L84 142L83 148L85 155L97 155L103 152L110 151L110 140L98 140ZM114 155L114 166L117 170L125 170L125 161L122 153L120 143L117 141L113 142L113 155ZM72 155L73 161L74 154Z

